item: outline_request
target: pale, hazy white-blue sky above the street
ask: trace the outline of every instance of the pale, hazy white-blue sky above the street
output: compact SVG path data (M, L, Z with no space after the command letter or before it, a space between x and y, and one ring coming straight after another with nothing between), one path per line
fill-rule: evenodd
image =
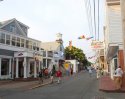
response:
M103 40L104 0L99 1L100 40ZM92 40L78 39L81 35L92 36L89 32L84 0L1 1L0 21L12 18L30 27L28 30L30 38L51 42L55 41L57 33L61 33L64 47L72 40L72 45L82 49L87 57L95 54L90 46Z

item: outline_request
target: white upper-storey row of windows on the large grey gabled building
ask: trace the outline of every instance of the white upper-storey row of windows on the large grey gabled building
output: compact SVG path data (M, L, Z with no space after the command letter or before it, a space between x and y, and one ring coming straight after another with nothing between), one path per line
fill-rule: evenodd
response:
M40 41L0 30L0 46L2 49L10 49L13 51L39 51L39 45Z

